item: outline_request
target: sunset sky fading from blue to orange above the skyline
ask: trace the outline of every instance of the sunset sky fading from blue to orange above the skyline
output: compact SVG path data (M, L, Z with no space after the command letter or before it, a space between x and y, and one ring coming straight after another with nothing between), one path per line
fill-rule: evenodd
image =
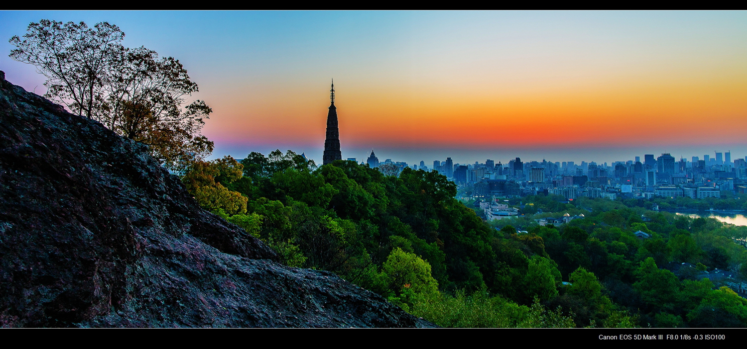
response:
M40 19L110 22L179 59L214 110L213 158L321 163L332 78L359 162L747 156L747 12L0 11L0 70L43 94L7 57Z

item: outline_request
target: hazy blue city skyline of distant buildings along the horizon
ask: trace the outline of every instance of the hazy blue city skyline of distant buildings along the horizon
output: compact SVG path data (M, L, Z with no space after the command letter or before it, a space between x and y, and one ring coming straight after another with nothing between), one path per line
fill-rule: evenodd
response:
M747 157L731 161L731 151L716 152L715 157L704 155L703 160L675 159L664 153L659 157L645 154L635 160L614 163L581 161L523 162L516 157L503 164L486 160L485 163L454 163L434 160L429 168L424 161L409 166L387 159L379 163L371 151L366 163L372 168L388 163L400 171L405 167L437 171L463 189L471 189L471 197L483 201L492 198L512 198L539 193L561 195L568 200L587 198L719 198L722 191L745 193L747 190ZM390 168L392 168L390 166ZM470 190L468 190L470 192ZM500 211L493 211L500 212ZM500 213L503 214L503 213Z

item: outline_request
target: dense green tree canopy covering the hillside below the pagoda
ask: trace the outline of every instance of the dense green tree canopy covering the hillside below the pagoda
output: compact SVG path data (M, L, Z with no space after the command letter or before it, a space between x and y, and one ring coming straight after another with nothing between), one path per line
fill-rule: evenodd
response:
M498 230L457 201L456 186L437 172L384 175L342 160L317 168L292 151L197 163L184 182L203 207L288 265L335 272L442 326L747 323L744 298L695 277L747 265L732 239L745 231L710 219L533 196L509 202L535 213L507 221L528 233L506 221ZM533 220L582 212L586 218L560 227ZM678 276L663 268L669 262L699 269Z

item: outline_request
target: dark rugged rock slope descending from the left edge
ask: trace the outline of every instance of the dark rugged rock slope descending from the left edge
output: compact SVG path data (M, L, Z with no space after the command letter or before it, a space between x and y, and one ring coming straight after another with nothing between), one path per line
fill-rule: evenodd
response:
M430 326L273 260L143 145L0 72L0 326Z

